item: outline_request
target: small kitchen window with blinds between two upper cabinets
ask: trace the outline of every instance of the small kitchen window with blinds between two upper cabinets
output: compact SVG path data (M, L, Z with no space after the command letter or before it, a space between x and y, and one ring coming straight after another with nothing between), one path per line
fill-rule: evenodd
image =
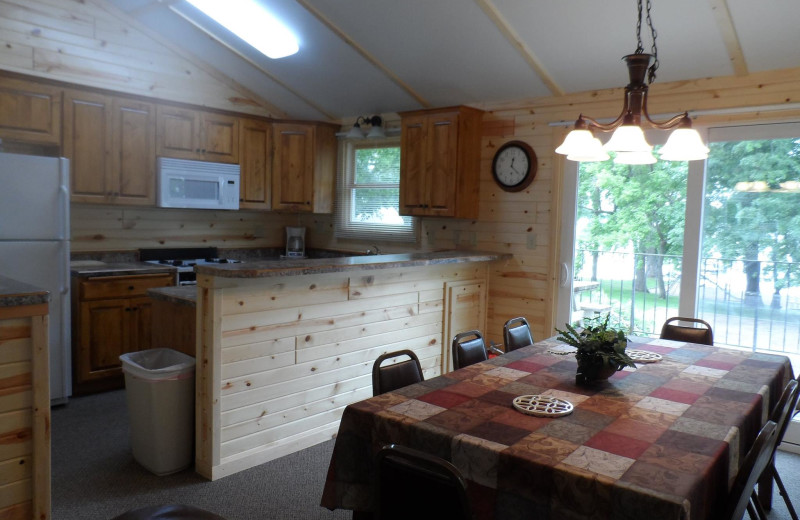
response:
M400 215L400 140L346 140L341 147L336 236L415 242L417 219Z

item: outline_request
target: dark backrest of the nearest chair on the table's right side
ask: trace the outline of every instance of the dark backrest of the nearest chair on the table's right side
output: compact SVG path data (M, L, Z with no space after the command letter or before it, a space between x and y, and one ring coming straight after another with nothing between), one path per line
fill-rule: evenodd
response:
M777 425L773 421L767 421L739 467L739 472L736 474L726 501L725 516L722 518L726 520L742 519L748 504L750 504L756 482L772 460L772 452L777 440Z

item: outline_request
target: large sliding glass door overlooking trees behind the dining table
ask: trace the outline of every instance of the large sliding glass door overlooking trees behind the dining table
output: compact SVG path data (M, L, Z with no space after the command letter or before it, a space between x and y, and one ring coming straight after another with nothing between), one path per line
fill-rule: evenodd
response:
M720 345L800 352L800 124L708 139L707 161L567 162L558 326L694 316Z

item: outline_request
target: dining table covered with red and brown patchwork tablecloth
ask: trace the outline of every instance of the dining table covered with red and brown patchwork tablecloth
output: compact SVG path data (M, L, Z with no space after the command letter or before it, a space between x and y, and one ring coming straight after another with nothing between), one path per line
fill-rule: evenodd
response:
M630 337L646 362L578 384L570 349L554 336L348 405L321 505L369 517L375 455L400 444L455 465L476 519L715 519L794 377L785 356Z

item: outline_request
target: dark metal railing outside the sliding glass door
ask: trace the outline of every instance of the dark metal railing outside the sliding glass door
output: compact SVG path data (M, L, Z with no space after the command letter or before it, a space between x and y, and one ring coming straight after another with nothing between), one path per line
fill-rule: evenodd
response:
M584 268L578 280L591 290L574 293L573 321L611 313L629 334L658 336L664 321L678 315L681 257L579 250ZM593 258L596 280L591 280ZM637 262L644 265L647 292L633 291ZM641 264L643 262L643 264ZM659 289L657 269L663 265ZM758 273L758 291L747 291L747 272ZM747 349L800 354L800 282L790 273L796 262L752 262L703 258L697 294L697 317L714 329L714 343ZM641 267L640 267L640 272ZM777 281L777 283L776 283ZM640 282L641 283L641 282Z

